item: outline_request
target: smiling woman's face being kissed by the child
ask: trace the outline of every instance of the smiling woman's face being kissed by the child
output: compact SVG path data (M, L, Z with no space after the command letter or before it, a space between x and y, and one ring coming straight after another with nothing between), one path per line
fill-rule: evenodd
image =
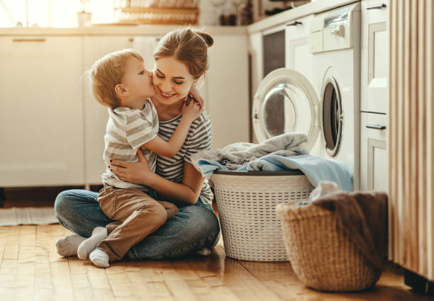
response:
M162 57L155 61L155 98L163 105L171 105L185 98L194 81L187 66L174 57Z

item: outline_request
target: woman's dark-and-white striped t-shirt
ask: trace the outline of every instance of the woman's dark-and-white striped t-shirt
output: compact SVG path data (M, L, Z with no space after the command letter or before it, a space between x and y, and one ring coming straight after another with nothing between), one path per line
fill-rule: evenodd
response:
M158 135L162 137L162 139L168 141L174 130L176 130L180 120L181 115L178 115L172 120L160 121ZM204 110L199 118L191 123L187 139L174 157L168 158L160 155L157 156L156 173L167 178L169 181L182 183L184 161L191 164L191 155L196 154L196 152L211 149L212 140L213 127L208 113ZM207 180L204 181L199 197L201 198L202 203L211 205L213 193L211 192Z

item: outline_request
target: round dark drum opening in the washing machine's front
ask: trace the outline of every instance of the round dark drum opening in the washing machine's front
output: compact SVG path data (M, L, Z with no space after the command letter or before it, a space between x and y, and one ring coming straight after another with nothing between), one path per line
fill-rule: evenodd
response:
M335 156L340 146L343 125L343 110L338 84L333 77L325 79L321 102L323 137L325 150L330 157Z

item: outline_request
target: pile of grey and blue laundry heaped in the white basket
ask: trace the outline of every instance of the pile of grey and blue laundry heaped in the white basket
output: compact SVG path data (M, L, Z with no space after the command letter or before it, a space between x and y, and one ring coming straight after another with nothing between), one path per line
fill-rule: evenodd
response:
M286 171L301 170L312 183L332 181L343 191L352 191L352 175L344 164L309 154L308 137L301 132L289 132L260 144L238 142L223 149L198 152L193 155L194 167L205 178L216 170Z

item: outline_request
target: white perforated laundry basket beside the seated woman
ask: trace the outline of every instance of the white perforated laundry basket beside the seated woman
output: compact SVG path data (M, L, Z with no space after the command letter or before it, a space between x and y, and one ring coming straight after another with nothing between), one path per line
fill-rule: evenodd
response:
M306 200L313 190L308 178L299 170L215 171L211 180L226 255L288 261L276 206Z

